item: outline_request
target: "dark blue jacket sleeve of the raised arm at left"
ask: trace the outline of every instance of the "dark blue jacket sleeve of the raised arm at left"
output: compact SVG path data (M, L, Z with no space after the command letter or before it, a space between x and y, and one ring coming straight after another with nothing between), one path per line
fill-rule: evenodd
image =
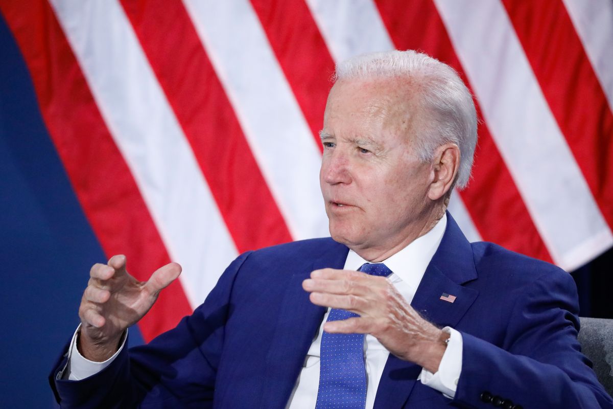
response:
M49 377L62 408L212 407L215 378L231 313L230 295L238 270L235 259L204 304L171 331L128 350L101 372L80 381L62 380L67 351Z

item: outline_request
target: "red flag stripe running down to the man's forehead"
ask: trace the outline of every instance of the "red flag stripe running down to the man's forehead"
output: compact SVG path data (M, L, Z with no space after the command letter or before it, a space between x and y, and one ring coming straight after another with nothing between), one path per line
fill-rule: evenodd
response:
M303 0L251 0L319 150L334 61Z

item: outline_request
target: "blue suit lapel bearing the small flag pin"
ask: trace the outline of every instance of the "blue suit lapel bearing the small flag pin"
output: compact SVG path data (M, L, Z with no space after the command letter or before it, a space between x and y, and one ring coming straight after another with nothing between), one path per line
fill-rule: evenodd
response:
M470 243L447 213L443 240L425 270L411 306L436 326L455 327L478 296L478 291L462 285L476 278ZM454 302L441 300L443 294L455 296ZM421 370L419 365L390 354L379 382L375 409L402 407Z

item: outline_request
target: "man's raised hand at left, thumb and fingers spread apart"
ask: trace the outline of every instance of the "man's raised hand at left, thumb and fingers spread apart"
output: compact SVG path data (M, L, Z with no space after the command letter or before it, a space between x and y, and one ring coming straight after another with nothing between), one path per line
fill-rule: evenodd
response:
M117 351L126 328L143 318L159 292L180 273L181 266L171 262L151 274L148 281L138 281L126 271L126 256L117 255L107 264L94 264L78 310L81 354L90 361L109 359Z

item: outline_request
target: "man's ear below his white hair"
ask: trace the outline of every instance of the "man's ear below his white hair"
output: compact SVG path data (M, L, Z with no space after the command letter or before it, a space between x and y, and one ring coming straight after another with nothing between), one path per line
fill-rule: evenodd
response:
M460 148L455 143L445 143L436 148L432 158L432 182L428 189L430 200L436 201L450 191L460 168Z

